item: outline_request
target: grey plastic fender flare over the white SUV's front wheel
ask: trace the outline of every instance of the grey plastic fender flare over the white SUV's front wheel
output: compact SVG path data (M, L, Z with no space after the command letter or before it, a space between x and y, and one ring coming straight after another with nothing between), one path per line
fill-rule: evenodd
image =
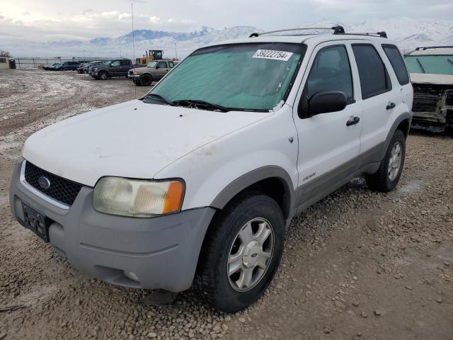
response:
M295 203L294 185L287 171L282 167L275 165L262 166L239 176L220 191L216 198L212 200L210 206L212 208L223 209L234 196L245 188L258 183L259 181L263 181L263 179L277 179L282 183L284 188L282 212L286 220L290 219L293 214Z

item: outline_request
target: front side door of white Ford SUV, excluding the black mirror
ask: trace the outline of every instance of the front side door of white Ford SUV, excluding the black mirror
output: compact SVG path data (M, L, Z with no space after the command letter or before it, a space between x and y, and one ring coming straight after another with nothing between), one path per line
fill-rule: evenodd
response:
M318 45L311 53L299 95L308 103L321 91L342 91L348 103L343 111L299 118L294 105L299 140L297 203L302 208L341 186L360 166L362 106L355 101L352 79L357 75L351 67L351 52L347 42Z

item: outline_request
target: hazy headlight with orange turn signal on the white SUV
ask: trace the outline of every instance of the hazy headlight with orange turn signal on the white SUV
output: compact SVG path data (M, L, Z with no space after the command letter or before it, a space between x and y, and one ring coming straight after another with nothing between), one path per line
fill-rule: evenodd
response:
M94 187L93 205L106 214L151 217L179 211L183 193L182 181L103 177Z

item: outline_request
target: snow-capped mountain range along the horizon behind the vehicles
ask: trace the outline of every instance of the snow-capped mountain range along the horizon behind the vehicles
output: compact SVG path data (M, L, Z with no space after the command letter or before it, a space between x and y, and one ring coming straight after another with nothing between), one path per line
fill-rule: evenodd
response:
M300 27L331 27L342 25L346 33L386 31L403 52L426 45L453 45L453 22L430 19L390 18L371 19L360 23L302 23ZM117 38L93 38L88 41L30 42L10 41L2 44L15 57L139 57L145 50L164 50L166 57L185 57L197 47L222 40L245 38L262 31L252 26L214 29L202 26L192 32L134 30ZM309 32L304 32L309 33ZM134 41L134 44L132 44Z

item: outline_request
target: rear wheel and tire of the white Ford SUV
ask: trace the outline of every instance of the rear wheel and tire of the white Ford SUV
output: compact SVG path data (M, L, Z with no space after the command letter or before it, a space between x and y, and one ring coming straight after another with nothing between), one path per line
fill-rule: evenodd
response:
M398 184L406 157L406 137L403 131L396 130L379 169L374 174L365 175L368 188L388 193Z

